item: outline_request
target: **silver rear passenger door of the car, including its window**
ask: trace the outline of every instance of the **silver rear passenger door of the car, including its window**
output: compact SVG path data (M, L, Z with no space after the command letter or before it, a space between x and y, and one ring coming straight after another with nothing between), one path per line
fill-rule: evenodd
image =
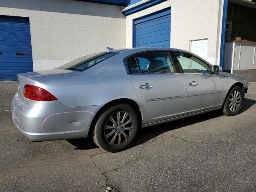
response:
M128 58L130 80L145 109L145 123L182 116L185 79L168 52L144 52Z

